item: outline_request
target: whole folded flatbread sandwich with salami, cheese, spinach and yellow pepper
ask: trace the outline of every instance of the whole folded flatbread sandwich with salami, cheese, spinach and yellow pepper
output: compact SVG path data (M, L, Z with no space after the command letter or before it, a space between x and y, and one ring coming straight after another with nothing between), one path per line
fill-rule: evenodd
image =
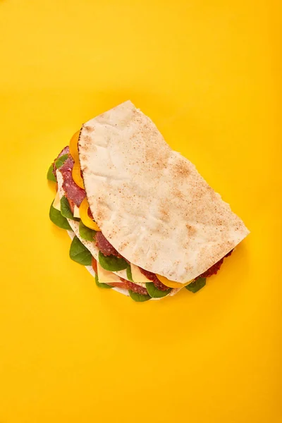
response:
M196 293L249 233L130 101L84 123L47 178L71 259L135 301Z

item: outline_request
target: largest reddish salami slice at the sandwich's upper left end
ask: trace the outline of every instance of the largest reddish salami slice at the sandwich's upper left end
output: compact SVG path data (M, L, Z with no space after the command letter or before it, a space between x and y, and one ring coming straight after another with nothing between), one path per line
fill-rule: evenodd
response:
M63 176L63 190L66 192L66 197L68 200L73 201L77 207L80 207L80 204L85 199L85 190L82 190L82 188L76 185L73 180L73 176L71 174L73 164L73 158L69 156L63 166L61 166L60 172Z

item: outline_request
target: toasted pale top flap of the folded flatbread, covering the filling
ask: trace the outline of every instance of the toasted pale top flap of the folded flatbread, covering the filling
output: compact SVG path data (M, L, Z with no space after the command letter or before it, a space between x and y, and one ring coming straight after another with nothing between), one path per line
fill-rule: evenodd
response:
M78 149L94 220L116 250L143 269L190 281L249 233L129 101L85 123Z

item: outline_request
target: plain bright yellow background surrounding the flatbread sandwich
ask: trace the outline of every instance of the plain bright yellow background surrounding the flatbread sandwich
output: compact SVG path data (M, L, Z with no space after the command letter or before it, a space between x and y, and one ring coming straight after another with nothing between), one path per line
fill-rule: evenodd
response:
M0 422L282 422L280 1L0 1ZM131 99L252 231L197 295L99 290L47 168Z

